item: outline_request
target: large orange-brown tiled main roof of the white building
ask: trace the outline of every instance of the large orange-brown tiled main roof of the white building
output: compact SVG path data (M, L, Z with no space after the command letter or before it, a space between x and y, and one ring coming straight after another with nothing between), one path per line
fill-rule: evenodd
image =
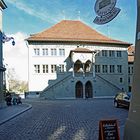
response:
M127 42L108 38L81 21L72 20L62 20L43 32L31 35L27 41L78 41L130 45Z

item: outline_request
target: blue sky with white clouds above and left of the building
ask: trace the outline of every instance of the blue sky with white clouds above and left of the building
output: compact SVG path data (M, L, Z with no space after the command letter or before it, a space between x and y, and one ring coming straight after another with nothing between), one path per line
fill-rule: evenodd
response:
M61 20L80 20L98 32L135 45L136 0L117 0L121 11L104 25L93 23L96 0L4 0L3 32L15 39L16 45L4 43L4 63L14 68L21 80L28 79L28 49L25 39L50 28Z

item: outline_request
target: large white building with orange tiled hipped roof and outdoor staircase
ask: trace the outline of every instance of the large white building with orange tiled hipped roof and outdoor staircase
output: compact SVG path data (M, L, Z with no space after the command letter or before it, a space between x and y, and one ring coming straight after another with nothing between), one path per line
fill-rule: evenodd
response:
M30 93L75 99L128 91L130 43L71 20L31 35L27 42Z

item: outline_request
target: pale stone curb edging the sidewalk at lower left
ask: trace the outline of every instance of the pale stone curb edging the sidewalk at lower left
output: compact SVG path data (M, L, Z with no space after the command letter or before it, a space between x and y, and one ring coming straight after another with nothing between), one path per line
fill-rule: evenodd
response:
M18 112L18 113L16 113L16 114L12 115L12 116L9 116L8 118L6 118L6 119L0 121L0 125L2 125L2 124L4 124L4 123L8 122L9 120L15 118L16 116L18 116L18 115L20 115L20 114L22 114L22 113L24 113L24 112L26 112L26 111L28 111L28 110L30 110L30 109L32 108L32 105L31 105L31 104L24 103L24 105L28 105L28 107L25 108L25 109L23 109L23 110L21 110L20 112Z

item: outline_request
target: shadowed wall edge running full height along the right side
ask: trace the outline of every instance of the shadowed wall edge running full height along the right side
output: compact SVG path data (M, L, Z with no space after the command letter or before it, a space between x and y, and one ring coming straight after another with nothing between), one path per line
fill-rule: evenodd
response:
M124 140L140 139L140 0L137 0L137 29L135 43L132 100L124 129Z

